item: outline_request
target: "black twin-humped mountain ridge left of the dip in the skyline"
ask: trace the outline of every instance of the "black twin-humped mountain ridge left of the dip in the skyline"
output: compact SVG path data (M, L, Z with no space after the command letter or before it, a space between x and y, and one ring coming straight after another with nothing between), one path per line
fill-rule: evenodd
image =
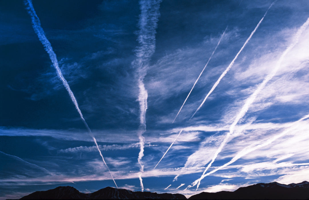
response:
M106 187L94 193L81 193L74 187L57 187L38 191L20 199L187 199L182 194L157 194L155 192L133 192L127 189Z

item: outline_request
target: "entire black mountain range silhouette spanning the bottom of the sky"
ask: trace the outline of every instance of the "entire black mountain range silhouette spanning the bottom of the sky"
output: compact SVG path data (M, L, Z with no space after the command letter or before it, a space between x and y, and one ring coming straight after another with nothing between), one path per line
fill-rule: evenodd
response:
M127 189L106 187L96 192L84 194L77 189L66 186L47 191L38 191L21 199L187 199L182 194L157 194L153 192L133 192ZM241 187L234 192L202 192L189 199L309 199L309 182L291 183L289 185L258 183Z

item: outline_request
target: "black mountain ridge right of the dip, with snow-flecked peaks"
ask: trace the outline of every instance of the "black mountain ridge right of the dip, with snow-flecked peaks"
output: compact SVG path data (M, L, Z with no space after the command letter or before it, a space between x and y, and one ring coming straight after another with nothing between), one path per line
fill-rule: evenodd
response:
M309 199L309 182L289 185L277 182L258 183L241 187L234 192L202 192L189 199Z

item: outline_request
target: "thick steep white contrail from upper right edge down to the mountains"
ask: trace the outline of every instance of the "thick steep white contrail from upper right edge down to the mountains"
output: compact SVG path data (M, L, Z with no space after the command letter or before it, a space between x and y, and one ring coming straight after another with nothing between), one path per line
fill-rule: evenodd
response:
M301 36L301 34L303 33L303 31L307 28L309 24L309 18L307 19L307 21L298 29L298 31L296 32L292 43L286 48L286 50L281 54L279 60L277 61L275 67L273 68L273 70L271 71L270 74L268 74L265 79L263 80L263 82L257 87L257 89L253 92L253 94L251 96L249 96L249 98L246 100L245 104L243 105L243 107L241 108L240 112L238 113L238 115L236 116L234 122L231 124L230 126L230 132L226 135L226 137L224 138L223 142L221 143L220 147L218 148L218 150L216 151L213 159L211 160L211 162L208 164L207 168L205 169L205 171L203 172L203 175L201 176L201 178L199 179L199 182L197 184L197 188L200 185L200 182L202 180L202 177L204 176L205 172L208 170L208 168L211 166L211 164L214 162L214 160L217 158L218 154L222 151L222 148L224 147L224 145L227 143L228 138L234 133L234 129L236 124L238 123L238 121L247 113L250 105L253 103L253 101L256 99L256 96L260 93L260 91L262 91L265 87L265 85L269 82L269 80L271 80L277 73L277 71L279 70L279 68L281 67L281 63L284 59L284 57L286 56L287 53L290 52L290 50L298 43L299 37Z

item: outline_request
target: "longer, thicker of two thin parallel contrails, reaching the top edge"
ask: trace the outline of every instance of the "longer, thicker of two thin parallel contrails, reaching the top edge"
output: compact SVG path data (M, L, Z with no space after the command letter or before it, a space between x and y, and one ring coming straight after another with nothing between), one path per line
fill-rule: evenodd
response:
M262 17L262 19L260 20L260 22L256 25L255 29L251 32L250 36L248 37L248 39L246 40L246 42L243 44L243 46L241 47L241 49L239 50L239 52L236 54L235 58L232 60L232 62L230 63L230 65L226 68L226 70L221 74L221 76L219 77L219 79L216 81L216 83L214 84L214 86L211 88L211 90L208 92L208 94L206 95L205 99L203 100L203 102L201 103L201 105L197 108L197 110L195 111L195 113L197 113L197 111L199 111L199 109L201 109L202 105L205 103L206 99L208 98L208 96L214 91L214 89L217 87L217 85L219 84L219 82L221 81L221 79L225 76L225 74L231 69L231 67L233 66L235 60L237 59L239 53L243 50L243 48L247 45L247 43L249 42L249 40L251 39L251 37L253 36L253 34L256 32L256 29L259 28L260 24L262 23L264 17L266 16L268 10L271 8L271 6L273 6L275 2L273 2L269 8L267 9L267 11L265 12L264 16ZM192 119L192 117L195 115L195 113L191 116L190 119Z

